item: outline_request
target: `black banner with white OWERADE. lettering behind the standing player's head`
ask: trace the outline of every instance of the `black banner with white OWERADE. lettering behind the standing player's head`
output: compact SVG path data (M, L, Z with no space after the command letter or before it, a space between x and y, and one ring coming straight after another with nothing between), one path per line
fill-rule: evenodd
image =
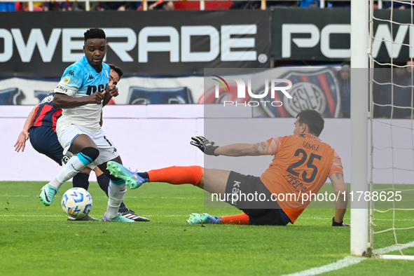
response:
M2 13L0 78L60 78L91 27L104 29L106 62L127 76L270 67L270 11Z

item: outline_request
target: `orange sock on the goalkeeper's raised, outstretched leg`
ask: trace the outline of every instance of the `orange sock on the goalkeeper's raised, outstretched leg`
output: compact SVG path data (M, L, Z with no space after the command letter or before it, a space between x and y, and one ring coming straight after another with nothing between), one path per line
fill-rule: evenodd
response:
M150 182L166 182L170 184L193 184L197 186L202 177L202 167L165 167L148 172Z

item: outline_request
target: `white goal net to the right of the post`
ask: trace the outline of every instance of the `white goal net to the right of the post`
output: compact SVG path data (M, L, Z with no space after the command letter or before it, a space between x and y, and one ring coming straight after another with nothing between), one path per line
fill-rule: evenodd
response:
M371 7L375 4L371 0ZM373 256L414 260L414 0L370 11L368 179ZM381 55L381 53L387 53Z

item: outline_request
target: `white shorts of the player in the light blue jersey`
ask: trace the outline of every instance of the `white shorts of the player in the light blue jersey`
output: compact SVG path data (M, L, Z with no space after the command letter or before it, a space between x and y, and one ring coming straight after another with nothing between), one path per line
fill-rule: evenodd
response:
M109 160L113 160L114 158L117 158L119 156L119 153L116 150L115 145L113 144L113 142L111 142L111 140L105 137L103 130L97 133L90 133L86 130L83 130L81 127L78 127L77 125L70 125L63 132L57 133L57 139L59 139L59 142L62 145L64 155L67 153L69 147L74 142L74 139L78 137L78 135L80 134L88 135L90 139L92 139L92 141L95 142L99 149L98 158L96 158L95 161L88 165L90 169L93 170L95 169L95 167L97 167L97 165L101 165L102 163L105 163Z

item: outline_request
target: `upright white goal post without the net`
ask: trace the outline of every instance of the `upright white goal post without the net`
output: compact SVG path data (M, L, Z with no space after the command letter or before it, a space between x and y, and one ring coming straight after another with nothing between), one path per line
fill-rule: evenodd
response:
M368 0L351 1L351 190L368 191ZM365 205L365 206L363 206ZM368 202L351 202L351 254L368 249Z

